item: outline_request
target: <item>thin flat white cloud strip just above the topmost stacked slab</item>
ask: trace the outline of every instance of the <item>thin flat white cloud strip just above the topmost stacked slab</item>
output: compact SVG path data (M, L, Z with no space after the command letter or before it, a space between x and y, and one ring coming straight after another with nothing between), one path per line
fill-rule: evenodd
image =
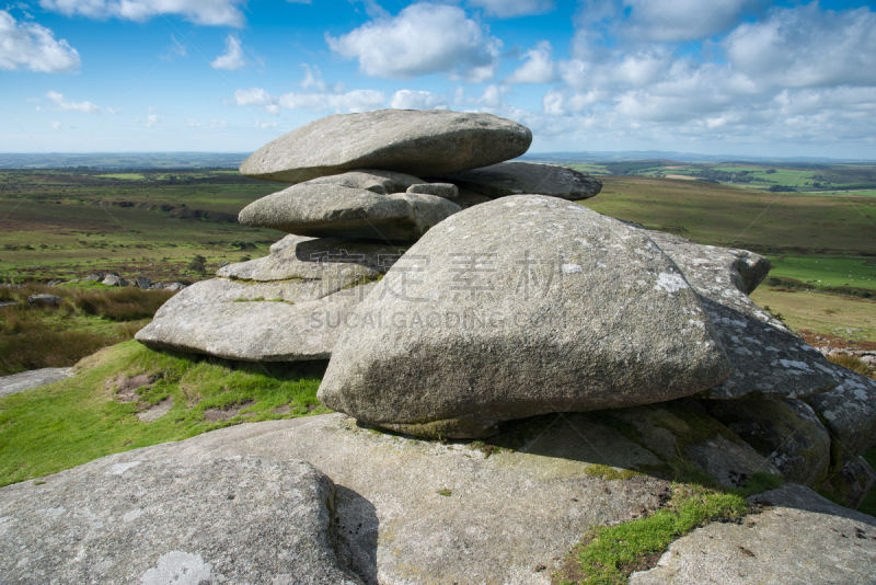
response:
M238 105L264 107L270 114L284 110L311 110L314 112L369 112L383 106L385 95L377 90L354 90L345 93L289 92L273 95L262 88L235 90Z

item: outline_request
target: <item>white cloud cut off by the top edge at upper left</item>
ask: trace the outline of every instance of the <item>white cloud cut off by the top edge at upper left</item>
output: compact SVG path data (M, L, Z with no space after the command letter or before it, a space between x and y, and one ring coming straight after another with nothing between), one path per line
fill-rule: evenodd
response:
M212 26L243 26L246 19L238 4L242 0L39 0L39 5L67 16L145 22L161 14L174 14Z

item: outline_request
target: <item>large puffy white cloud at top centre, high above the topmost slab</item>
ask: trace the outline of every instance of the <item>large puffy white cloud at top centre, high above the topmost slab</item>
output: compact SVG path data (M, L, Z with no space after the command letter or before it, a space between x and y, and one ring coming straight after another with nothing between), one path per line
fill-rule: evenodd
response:
M460 8L417 3L397 16L378 18L337 38L335 53L359 61L366 74L413 78L445 72L482 82L493 77L502 42L489 36Z

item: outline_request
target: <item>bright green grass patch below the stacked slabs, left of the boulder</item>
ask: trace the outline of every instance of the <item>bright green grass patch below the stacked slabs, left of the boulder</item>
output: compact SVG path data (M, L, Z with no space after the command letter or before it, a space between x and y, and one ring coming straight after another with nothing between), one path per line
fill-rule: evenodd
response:
M244 421L330 412L318 406L319 368L232 366L129 341L84 359L78 369L68 380L0 398L0 486ZM119 402L119 380L137 375L154 381L140 388L134 402ZM165 415L138 420L138 412L168 398L173 406ZM247 406L228 421L205 420L241 404ZM283 406L288 412L275 412Z

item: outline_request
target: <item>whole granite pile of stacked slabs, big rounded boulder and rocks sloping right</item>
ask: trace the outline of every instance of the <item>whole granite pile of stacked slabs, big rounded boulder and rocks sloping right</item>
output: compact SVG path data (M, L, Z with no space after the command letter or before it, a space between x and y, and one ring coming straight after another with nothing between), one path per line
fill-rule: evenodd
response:
M722 483L781 473L857 505L876 482L860 457L876 445L876 382L749 299L769 261L569 203L601 184L505 162L530 140L443 111L331 116L280 137L241 172L293 184L240 220L288 236L176 295L137 339L331 358L324 404L425 437L612 410L658 458L681 454ZM671 438L679 409L714 440Z

